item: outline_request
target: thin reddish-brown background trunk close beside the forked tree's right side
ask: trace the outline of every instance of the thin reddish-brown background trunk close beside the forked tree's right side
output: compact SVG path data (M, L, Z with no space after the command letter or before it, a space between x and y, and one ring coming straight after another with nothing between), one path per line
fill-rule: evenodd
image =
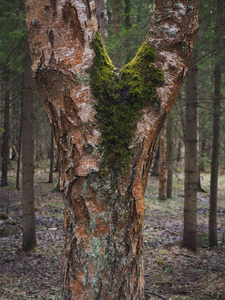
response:
M167 190L167 174L166 174L166 125L164 123L160 131L160 146L159 146L159 199L166 200Z

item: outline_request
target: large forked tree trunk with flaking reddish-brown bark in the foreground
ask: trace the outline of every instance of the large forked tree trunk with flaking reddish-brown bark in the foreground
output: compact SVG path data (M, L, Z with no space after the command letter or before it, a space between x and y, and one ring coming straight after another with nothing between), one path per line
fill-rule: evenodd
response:
M198 27L197 1L182 0L175 6L174 1L157 0L147 42L121 73L113 69L96 35L94 1L27 0L26 11L34 76L61 162L63 299L144 299L144 192L158 133L186 74ZM149 66L151 44L156 61ZM139 82L132 73L139 63L140 76L148 77L148 72L142 73L145 68L156 73L155 68L160 68L164 81L157 87L158 97L141 108L135 128L131 121L136 114L133 118L128 114L116 127L114 118L130 106L139 107L131 91L139 93L139 84L144 89L145 84L153 85L150 79ZM90 68L94 68L91 77ZM135 79L124 86L120 74L127 78L126 72L131 72L128 81ZM94 81L96 77L99 80ZM111 87L118 89L116 95L108 93ZM123 144L117 134L129 136L127 124L133 128L132 140ZM123 157L124 152L129 159ZM118 170L125 161L126 167Z

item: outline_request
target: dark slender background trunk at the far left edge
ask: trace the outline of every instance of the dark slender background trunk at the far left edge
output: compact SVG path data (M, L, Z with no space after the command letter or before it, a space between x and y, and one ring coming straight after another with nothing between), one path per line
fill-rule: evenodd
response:
M4 132L2 141L2 180L1 186L8 185L9 138L10 138L10 70L4 77Z

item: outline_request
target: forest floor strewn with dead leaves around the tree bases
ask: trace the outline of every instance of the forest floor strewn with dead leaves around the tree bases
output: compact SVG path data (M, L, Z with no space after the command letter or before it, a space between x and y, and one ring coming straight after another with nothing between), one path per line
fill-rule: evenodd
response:
M21 191L15 189L13 170L9 186L0 188L0 299L61 299L63 203L56 185L47 183L48 173L35 174L37 248L21 251ZM209 190L209 175L202 175ZM181 247L183 231L183 177L174 176L173 199L159 201L158 179L149 178L145 213L146 300L225 299L225 176L219 178L219 246L209 248L209 193L198 193L196 253Z

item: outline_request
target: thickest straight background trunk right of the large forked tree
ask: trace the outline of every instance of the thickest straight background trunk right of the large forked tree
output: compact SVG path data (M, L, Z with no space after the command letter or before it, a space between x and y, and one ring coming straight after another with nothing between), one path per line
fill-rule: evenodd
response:
M183 246L197 249L197 50L186 79L185 194Z

